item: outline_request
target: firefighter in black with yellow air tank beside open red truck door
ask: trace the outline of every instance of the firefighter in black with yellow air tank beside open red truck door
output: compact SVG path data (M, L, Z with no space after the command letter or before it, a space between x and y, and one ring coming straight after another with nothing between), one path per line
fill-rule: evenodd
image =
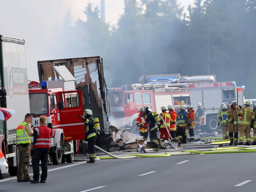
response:
M95 163L95 142L96 142L96 136L97 136L97 129L94 123L94 119L92 117L92 110L91 109L85 109L84 115L80 115L82 119L84 119L84 125L85 125L85 139L88 142L88 155L90 161L87 161L86 163Z

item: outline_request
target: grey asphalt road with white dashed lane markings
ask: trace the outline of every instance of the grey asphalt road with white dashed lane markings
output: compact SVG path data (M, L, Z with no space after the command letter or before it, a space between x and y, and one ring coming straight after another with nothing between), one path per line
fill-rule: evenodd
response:
M0 180L0 192L254 191L254 157L255 153L196 154L49 164L46 183L18 183L16 177L7 177Z

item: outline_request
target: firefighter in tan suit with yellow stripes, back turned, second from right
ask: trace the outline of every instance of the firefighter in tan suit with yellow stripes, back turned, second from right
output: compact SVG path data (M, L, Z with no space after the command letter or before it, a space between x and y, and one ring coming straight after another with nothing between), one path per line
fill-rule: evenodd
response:
M244 141L244 134L246 137L246 143L245 145L251 145L251 117L252 117L252 108L250 108L250 100L245 101L245 107L238 106L241 108L237 115L241 116L240 119L240 125L238 126L238 129L240 131L239 135L239 145L243 145Z

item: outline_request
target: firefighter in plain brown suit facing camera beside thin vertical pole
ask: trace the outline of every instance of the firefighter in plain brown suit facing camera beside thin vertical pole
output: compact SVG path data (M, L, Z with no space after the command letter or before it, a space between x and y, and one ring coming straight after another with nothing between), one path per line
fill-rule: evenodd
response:
M229 145L232 145L235 143L235 146L237 146L237 136L238 136L238 119L237 118L237 111L240 110L239 107L237 106L237 102L234 100L231 102L230 109L227 111L227 116L226 116L226 126L228 127L228 135L229 135L229 140L230 143ZM239 119L240 120L240 119ZM233 135L234 133L234 135Z

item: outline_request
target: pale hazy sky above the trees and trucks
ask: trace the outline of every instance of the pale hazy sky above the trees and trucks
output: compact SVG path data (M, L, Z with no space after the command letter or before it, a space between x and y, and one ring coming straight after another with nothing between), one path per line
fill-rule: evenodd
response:
M58 49L58 45L53 44L51 38L63 27L68 14L71 16L70 25L75 25L78 19L85 21L83 11L89 1L93 7L100 7L100 0L0 0L0 34L25 39L29 80L38 81L39 60L77 57L67 57L64 53L56 54L54 49ZM187 6L193 0L178 2ZM115 25L124 11L123 8L122 0L105 0L105 21ZM89 56L92 55L81 57Z

